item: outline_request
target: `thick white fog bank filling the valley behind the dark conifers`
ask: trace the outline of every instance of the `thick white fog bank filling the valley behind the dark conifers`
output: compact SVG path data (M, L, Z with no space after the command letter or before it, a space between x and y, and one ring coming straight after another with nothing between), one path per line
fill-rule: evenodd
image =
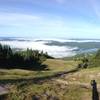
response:
M40 41L0 41L1 44L10 45L12 48L21 48L21 49L33 49L48 52L49 55L59 58L75 55L73 50L75 48L65 47L65 46L49 46L45 45L45 42Z

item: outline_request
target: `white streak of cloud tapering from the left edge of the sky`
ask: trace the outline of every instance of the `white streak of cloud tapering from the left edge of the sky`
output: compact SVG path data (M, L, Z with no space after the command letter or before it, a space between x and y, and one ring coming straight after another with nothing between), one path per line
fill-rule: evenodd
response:
M40 16L21 13L0 13L1 26L21 26L41 20Z

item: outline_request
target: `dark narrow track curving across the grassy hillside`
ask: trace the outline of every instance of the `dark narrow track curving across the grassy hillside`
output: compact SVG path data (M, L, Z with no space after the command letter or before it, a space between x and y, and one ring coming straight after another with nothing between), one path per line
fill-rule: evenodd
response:
M40 84L40 83L44 83L45 81L48 80L52 80L55 78L59 78L62 75L67 75L69 73L75 73L77 72L78 69L72 69L70 71L63 71L63 72L58 72L55 73L54 75L51 76L45 76L45 77L36 77L36 78L20 78L20 79L0 79L0 84L8 84L8 83L19 83L19 82L28 82L28 81L32 81L32 83L36 83L36 84Z

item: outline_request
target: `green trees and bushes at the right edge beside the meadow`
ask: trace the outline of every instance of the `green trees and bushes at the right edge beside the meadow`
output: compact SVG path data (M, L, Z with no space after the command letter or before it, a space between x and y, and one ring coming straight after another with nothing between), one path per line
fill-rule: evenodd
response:
M100 67L100 49L94 53L89 53L87 56L75 57L74 60L80 61L78 68Z

